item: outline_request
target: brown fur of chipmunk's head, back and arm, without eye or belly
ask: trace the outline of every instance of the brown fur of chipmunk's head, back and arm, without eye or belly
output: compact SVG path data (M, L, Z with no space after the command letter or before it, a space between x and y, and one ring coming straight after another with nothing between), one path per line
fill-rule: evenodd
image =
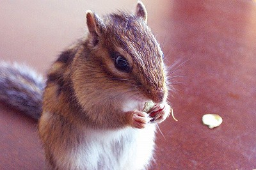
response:
M54 168L58 165L52 154L76 148L82 127L132 126L133 112L122 111L125 100L145 98L158 104L167 97L161 49L146 24L143 4L134 15L118 12L100 19L88 12L86 19L87 38L65 50L48 72L39 132ZM131 72L115 68L115 52L127 59Z

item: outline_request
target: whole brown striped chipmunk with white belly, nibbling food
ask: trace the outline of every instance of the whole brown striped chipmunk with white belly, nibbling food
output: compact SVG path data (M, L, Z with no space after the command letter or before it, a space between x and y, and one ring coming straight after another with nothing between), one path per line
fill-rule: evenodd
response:
M1 64L0 100L38 120L51 169L150 166L157 123L171 107L147 17L141 1L134 13L86 11L88 35L60 54L46 81L26 66ZM145 112L148 101L154 106Z

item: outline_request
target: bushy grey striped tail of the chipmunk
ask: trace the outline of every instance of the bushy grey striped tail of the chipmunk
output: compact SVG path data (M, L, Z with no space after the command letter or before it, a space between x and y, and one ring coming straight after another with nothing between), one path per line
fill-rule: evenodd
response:
M25 65L0 63L0 100L38 120L45 81Z

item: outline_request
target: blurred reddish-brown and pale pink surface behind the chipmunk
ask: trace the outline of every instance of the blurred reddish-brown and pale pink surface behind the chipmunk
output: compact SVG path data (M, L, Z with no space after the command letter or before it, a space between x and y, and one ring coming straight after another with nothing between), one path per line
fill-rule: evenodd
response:
M256 3L143 1L165 54L175 118L159 125L151 169L256 168ZM85 12L134 12L136 1L0 1L0 60L45 75L86 35ZM1 87L0 87L1 88ZM207 113L220 127L202 124ZM36 122L0 103L0 169L45 169Z

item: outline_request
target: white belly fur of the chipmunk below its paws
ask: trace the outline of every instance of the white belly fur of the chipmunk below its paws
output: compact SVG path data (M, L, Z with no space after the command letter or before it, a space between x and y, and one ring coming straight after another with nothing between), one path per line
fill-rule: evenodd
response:
M145 169L152 158L154 138L153 124L143 129L86 130L84 142L67 151L68 157L58 164L64 169Z

